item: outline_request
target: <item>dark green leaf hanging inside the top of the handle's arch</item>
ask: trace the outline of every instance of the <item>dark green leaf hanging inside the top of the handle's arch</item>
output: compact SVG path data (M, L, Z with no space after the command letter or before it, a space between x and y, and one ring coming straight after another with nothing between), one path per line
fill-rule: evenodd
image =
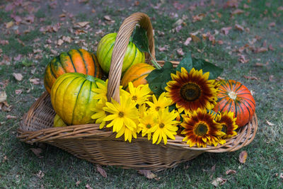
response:
M144 28L136 27L133 42L141 52L149 52L149 38L147 38Z

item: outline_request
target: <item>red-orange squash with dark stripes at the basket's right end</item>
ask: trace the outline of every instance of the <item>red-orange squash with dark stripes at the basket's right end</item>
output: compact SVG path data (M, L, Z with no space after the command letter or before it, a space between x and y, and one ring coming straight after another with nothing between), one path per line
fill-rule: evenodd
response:
M243 127L253 118L255 100L246 86L234 80L221 80L215 112L231 111L236 125Z

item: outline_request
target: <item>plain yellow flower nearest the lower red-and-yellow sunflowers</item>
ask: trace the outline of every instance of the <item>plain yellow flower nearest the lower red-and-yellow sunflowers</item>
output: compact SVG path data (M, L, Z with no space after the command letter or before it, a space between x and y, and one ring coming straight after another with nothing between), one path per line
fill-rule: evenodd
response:
M161 139L163 139L164 144L167 144L167 137L171 139L175 139L174 134L177 134L178 130L178 121L175 120L178 113L175 113L175 110L169 112L169 108L166 107L164 110L158 110L158 118L157 118L157 124L154 125L150 130L147 132L154 132L152 136L152 144L157 143L159 144L161 142Z

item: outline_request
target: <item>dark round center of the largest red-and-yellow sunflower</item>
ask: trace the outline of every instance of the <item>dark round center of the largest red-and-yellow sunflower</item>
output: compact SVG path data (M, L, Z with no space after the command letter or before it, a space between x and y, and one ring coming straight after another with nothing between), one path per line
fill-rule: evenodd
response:
M185 84L180 89L180 96L185 101L195 101L200 98L200 86L197 84Z

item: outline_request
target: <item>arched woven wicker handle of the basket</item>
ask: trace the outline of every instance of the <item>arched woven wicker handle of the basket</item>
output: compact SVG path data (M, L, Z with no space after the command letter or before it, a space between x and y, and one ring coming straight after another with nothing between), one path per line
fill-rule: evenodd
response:
M111 98L120 102L119 86L122 74L122 64L127 51L127 45L129 44L129 38L131 37L137 23L139 23L141 28L146 30L147 38L149 38L149 50L151 51L151 55L153 57L155 56L154 33L149 16L145 13L133 13L131 16L126 18L120 26L115 40L115 45L113 47L108 79L107 98L109 102ZM146 59L150 59L148 53L146 53Z

